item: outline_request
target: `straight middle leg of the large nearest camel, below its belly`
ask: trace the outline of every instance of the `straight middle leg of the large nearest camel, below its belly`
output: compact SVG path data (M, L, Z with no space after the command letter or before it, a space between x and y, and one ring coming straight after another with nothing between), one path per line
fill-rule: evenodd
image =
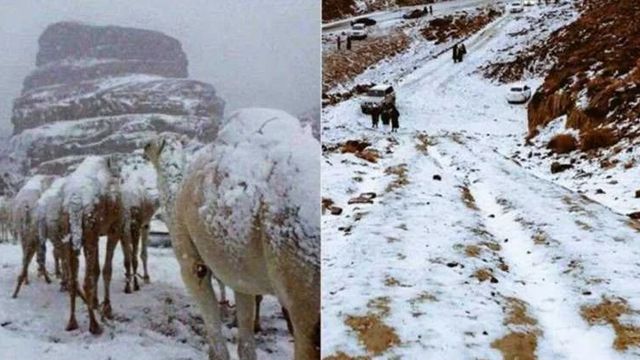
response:
M254 319L256 317L256 297L235 292L236 316L238 317L238 357L240 360L256 360Z

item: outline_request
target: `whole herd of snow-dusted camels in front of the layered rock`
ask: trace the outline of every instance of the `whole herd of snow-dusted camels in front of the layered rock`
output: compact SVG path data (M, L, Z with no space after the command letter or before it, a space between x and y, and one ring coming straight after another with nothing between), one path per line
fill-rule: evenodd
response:
M240 359L256 359L254 328L259 299L275 295L294 337L295 359L320 358L319 142L298 119L280 111L248 109L231 116L215 141L194 152L189 139L158 135L143 149L155 169L157 192L127 176L120 160L88 156L64 177L35 175L12 199L11 232L23 250L13 296L38 274L50 282L46 243L55 274L69 295L66 330L78 328L76 297L84 301L89 331L100 334L113 318L112 259L124 254L126 293L139 290L138 256L149 283L149 224L161 210L185 287L199 306L209 358L229 359L222 332L225 285L234 291ZM316 193L318 192L318 193ZM102 272L101 237L107 239ZM140 253L140 254L138 254ZM80 256L85 278L78 283ZM98 279L104 299L99 306ZM218 294L212 280L221 284Z

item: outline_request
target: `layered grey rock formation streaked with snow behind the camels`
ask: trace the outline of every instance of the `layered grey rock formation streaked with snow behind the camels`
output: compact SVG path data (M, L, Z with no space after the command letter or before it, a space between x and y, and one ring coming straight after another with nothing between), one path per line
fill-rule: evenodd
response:
M128 154L157 132L215 136L224 101L211 85L187 79L178 40L63 22L38 44L36 69L14 101L7 167L59 174L89 154Z

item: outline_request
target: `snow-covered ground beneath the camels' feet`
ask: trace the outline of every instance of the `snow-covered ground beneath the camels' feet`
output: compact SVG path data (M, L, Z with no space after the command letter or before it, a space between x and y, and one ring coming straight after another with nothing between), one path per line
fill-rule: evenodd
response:
M104 254L106 240L102 240ZM49 254L49 270L53 270ZM102 255L101 255L102 256ZM78 299L78 330L64 330L69 300L56 283L47 285L36 278L35 265L30 284L17 299L11 298L19 273L20 246L0 244L0 359L206 359L203 321L197 306L180 278L173 250L149 249L151 284L125 294L122 253L116 249L111 284L115 320L102 322L104 333L89 333L89 321ZM34 261L35 262L35 261ZM82 279L84 269L81 263ZM99 283L102 294L102 282ZM228 291L227 294L232 294ZM228 323L231 319L227 319ZM290 359L293 340L287 331L277 300L267 296L261 307L262 331L256 336L259 359ZM236 355L236 328L226 328L227 346Z

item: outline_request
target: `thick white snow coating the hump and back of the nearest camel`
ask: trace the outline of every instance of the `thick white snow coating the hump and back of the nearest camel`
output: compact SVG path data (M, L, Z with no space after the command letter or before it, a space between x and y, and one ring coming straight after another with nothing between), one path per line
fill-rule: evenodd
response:
M310 263L320 262L320 144L311 128L284 111L252 108L231 114L216 141L195 155L188 174L206 174L201 215L228 238L247 243L266 206L272 241L296 241ZM238 166L242 164L242 166ZM230 208L232 212L219 211ZM275 217L286 215L284 224ZM283 238L282 232L290 235Z

